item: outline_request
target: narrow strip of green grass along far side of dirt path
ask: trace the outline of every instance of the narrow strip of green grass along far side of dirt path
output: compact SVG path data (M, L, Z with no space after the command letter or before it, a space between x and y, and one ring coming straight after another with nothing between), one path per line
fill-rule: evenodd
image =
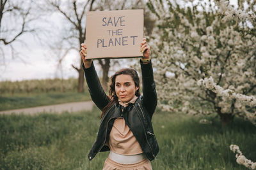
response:
M51 104L60 104L76 101L89 101L88 90L84 93L78 92L49 92L40 94L14 94L0 96L0 111L19 108L30 108Z

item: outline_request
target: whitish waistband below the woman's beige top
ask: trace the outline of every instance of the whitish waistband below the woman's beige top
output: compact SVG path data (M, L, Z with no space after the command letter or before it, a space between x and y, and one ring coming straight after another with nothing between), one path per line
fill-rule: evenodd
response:
M141 162L144 159L147 159L144 153L140 153L137 155L121 155L112 151L109 152L108 157L109 159L114 160L119 164L135 164Z

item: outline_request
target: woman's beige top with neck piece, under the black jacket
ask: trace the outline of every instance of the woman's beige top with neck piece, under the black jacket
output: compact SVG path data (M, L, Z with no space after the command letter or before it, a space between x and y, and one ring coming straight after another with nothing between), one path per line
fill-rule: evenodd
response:
M129 103L134 103L138 97L135 96ZM127 106L127 103L121 103L122 106ZM111 132L109 141L106 143L110 150L121 155L136 155L143 153L141 146L133 135L131 129L125 124L124 118L116 118Z

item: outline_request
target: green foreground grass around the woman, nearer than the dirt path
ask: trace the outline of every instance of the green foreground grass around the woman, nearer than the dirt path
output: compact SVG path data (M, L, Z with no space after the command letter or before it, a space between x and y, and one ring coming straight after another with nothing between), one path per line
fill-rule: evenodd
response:
M100 111L84 113L0 115L0 169L102 169L108 152L89 162ZM199 124L202 117L156 111L154 131L160 151L155 170L247 169L236 163L230 144L239 145L246 158L256 161L256 127L239 118L221 128Z

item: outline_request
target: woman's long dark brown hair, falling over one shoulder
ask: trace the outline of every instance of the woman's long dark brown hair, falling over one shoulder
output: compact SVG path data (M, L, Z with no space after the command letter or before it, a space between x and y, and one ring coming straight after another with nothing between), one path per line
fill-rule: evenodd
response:
M108 108L110 108L111 106L113 106L113 104L118 102L118 97L116 96L116 91L115 91L115 83L116 83L116 76L119 76L121 74L130 75L132 77L135 87L138 87L138 90L136 90L136 92L135 92L135 96L140 96L140 78L138 76L137 71L132 68L123 68L123 69L120 69L119 71L116 71L116 73L113 76L111 76L110 82L109 82L110 102L107 104L107 106L105 106L103 108L100 118L102 118L104 116L104 113L106 113Z

